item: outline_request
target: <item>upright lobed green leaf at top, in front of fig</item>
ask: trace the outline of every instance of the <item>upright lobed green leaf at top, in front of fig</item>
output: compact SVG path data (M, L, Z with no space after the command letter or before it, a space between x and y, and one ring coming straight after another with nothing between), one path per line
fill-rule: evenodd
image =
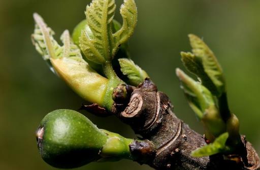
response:
M113 33L115 14L114 0L93 0L86 8L86 21L91 33L82 31L80 47L87 59L104 64L111 61L120 45L132 36L137 22L137 8L134 0L125 0L120 13L123 25Z

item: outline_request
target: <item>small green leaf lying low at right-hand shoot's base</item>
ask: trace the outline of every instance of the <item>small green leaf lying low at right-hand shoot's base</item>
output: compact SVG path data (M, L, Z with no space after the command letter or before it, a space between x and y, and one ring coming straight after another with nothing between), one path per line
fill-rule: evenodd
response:
M210 156L217 153L223 153L229 151L230 148L225 145L225 142L228 138L229 138L229 133L225 132L219 135L219 137L216 138L216 140L213 143L192 151L191 156L203 157L203 156Z

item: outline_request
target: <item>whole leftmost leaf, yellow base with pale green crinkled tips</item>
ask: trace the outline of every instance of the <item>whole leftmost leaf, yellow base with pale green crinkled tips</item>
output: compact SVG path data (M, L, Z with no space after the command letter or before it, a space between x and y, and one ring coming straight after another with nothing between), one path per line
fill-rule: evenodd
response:
M35 33L32 35L37 51L52 65L55 72L82 98L102 106L108 79L102 77L82 58L80 49L75 45L68 30L61 36L63 46L53 39L53 31L43 19L34 14Z

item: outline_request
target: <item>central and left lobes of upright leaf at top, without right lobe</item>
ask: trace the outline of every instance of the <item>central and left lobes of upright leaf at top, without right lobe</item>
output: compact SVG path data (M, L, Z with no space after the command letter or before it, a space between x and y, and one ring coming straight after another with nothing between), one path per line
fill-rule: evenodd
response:
M86 8L87 25L93 33L93 38L82 31L80 47L85 56L93 62L103 64L112 59L112 20L115 8L114 0L93 0Z

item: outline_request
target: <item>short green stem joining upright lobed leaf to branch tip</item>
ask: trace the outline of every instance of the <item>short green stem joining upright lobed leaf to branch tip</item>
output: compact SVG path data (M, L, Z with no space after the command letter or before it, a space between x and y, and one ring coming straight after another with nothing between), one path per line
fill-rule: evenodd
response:
M123 84L124 82L116 75L111 61L106 61L103 64L103 70L105 76L109 79L107 91L104 97L103 107L106 108L108 111L111 111L114 103L114 100L112 99L113 90L119 84Z

